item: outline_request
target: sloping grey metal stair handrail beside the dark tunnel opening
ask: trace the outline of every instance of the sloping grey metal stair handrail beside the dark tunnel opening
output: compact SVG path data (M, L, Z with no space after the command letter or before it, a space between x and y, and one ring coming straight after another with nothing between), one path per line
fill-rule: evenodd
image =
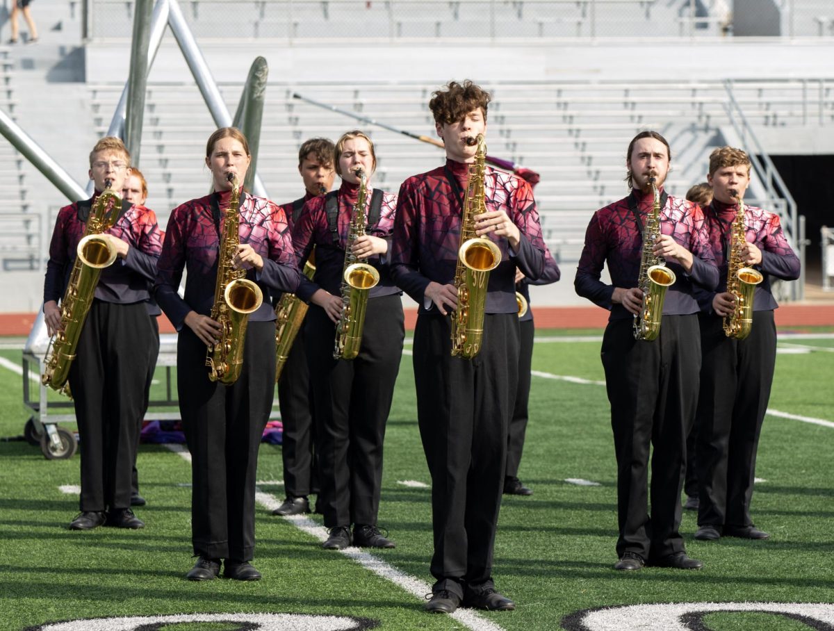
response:
M724 84L727 93L726 113L730 119L730 123L735 129L736 133L741 138L741 143L745 148L748 148L747 154L750 156L753 170L756 172L756 177L764 184L768 199L776 201L784 199L786 203L783 229L785 230L788 242L791 247L799 254L801 268L805 268L805 243L804 238L799 233L799 218L796 209L796 200L791 195L791 191L787 188L785 181L781 178L779 170L771 160L769 153L761 146L759 138L753 132L751 124L747 121L744 111L736 101L733 94L733 83L727 80ZM752 149L752 150L749 150ZM803 283L791 283L791 296L795 300L805 298L805 287Z

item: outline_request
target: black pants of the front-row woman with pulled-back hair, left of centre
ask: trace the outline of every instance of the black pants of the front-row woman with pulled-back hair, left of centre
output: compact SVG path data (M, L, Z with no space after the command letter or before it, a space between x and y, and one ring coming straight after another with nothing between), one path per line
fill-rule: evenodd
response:
M205 358L205 344L183 327L177 390L191 452L193 550L207 558L249 561L258 449L275 388L275 323L249 322L244 367L232 385L209 381Z

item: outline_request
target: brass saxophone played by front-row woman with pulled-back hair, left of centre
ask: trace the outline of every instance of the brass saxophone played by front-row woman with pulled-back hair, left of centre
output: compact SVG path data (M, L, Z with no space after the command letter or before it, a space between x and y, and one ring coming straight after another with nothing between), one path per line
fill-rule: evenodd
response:
M249 313L257 311L264 294L257 284L244 278L245 269L234 268L234 255L240 245L240 184L234 173L226 178L232 183L232 196L226 211L217 261L217 283L211 318L220 324L220 341L206 351L208 378L231 385L238 380L244 364L244 339Z

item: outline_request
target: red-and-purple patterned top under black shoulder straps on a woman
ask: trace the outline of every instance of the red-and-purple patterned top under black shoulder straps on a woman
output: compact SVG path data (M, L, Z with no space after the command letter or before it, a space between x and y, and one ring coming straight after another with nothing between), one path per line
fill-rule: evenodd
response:
M368 207L365 208L365 218L368 218L370 201L373 188L367 189L366 200ZM339 230L338 243L334 243L334 235L330 232L327 219L327 197L319 195L304 204L301 217L293 228L293 246L295 248L295 261L299 269L304 268L304 262L309 257L315 246L315 275L313 280L302 278L297 292L299 298L309 303L309 299L319 289L332 293L334 296L341 295L342 269L344 268L344 248L348 243L350 229L350 216L353 213L356 198L359 196L359 186L349 182L342 182L339 191L336 193L339 213L337 224ZM366 233L374 237L384 238L388 242L388 252L391 251L391 229L394 227L394 213L397 208L397 197L391 193L383 193L382 208L379 209L379 221L373 226L366 228ZM372 257L363 259L363 263L369 263L379 272L379 283L372 288L368 294L369 298L378 296L389 296L399 293L399 288L394 285L389 272L387 256Z

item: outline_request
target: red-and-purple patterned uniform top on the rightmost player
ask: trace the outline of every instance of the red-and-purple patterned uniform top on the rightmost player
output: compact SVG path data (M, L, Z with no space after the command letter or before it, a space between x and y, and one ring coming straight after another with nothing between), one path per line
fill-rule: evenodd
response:
M730 233L737 211L738 207L735 204L722 203L717 199L714 199L704 210L712 252L715 254L716 265L721 273L716 291L708 292L701 288L696 291L701 310L706 313L713 313L712 298L716 293L726 292ZM744 225L747 241L755 243L756 247L761 250L761 263L754 265L753 268L765 277L756 286L753 311L770 311L779 306L771 292L771 276L782 280L799 278L799 258L787 243L778 215L768 213L761 208L747 206L744 213Z

